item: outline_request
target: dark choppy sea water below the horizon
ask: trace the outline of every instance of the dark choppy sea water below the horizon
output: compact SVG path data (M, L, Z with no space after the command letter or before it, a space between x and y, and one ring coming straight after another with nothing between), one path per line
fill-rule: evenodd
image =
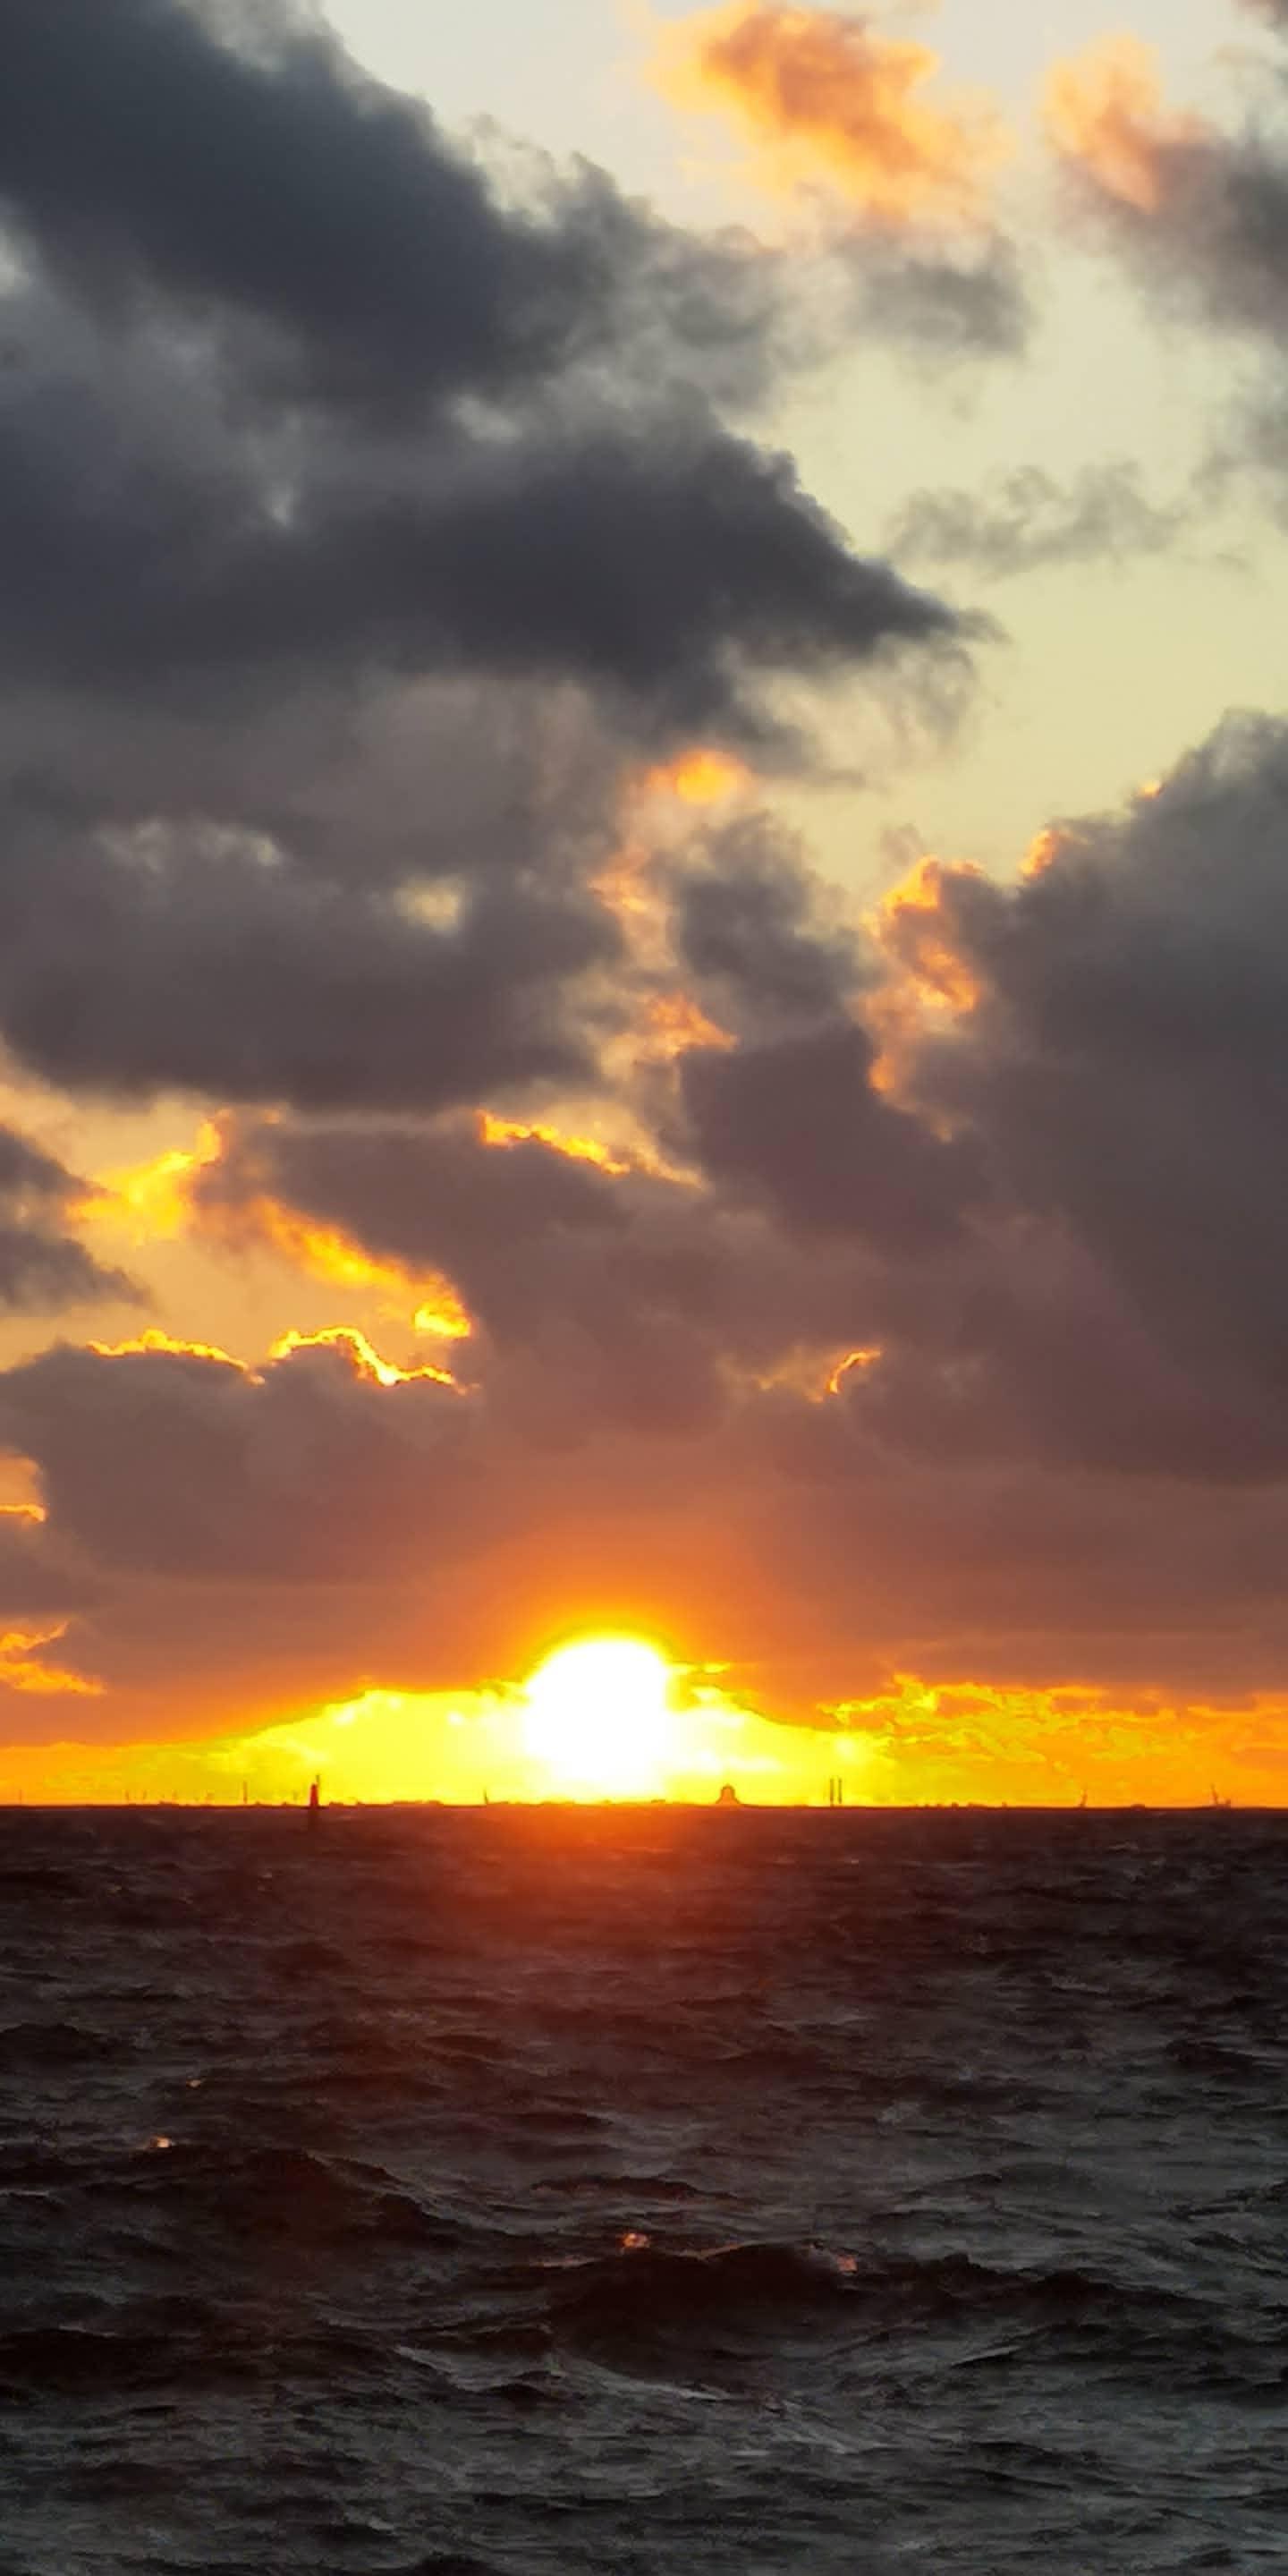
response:
M1288 1821L0 1816L0 2571L1288 2568Z

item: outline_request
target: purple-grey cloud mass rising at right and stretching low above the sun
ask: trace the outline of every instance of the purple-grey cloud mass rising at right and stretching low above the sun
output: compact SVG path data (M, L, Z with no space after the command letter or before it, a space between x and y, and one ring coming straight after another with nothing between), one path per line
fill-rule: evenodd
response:
M788 845L703 835L675 927L737 1043L677 1064L688 1172L464 1113L232 1121L198 1218L252 1242L270 1198L446 1270L477 1386L335 1347L10 1370L0 1430L108 1587L67 1654L126 1700L185 1651L247 1698L291 1651L309 1692L410 1687L520 1656L567 1587L659 1625L698 1566L703 1649L781 1705L884 1667L1273 1687L1285 817L1283 729L1229 726L1041 873L922 876L886 987ZM884 1090L837 994L899 1005Z

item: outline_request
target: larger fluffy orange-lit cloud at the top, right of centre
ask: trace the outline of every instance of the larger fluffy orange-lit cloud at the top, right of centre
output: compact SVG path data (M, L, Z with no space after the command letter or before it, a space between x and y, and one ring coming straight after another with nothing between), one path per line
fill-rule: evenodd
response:
M824 183L876 224L974 224L1007 139L974 95L935 100L938 54L827 8L732 0L662 36L657 82L726 116L775 188Z

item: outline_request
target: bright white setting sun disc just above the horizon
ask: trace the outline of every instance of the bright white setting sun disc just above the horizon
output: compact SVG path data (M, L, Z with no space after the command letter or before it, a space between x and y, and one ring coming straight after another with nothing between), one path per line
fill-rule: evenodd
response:
M670 1664L636 1636L559 1646L526 1685L523 1741L559 1788L647 1798L672 1752Z

